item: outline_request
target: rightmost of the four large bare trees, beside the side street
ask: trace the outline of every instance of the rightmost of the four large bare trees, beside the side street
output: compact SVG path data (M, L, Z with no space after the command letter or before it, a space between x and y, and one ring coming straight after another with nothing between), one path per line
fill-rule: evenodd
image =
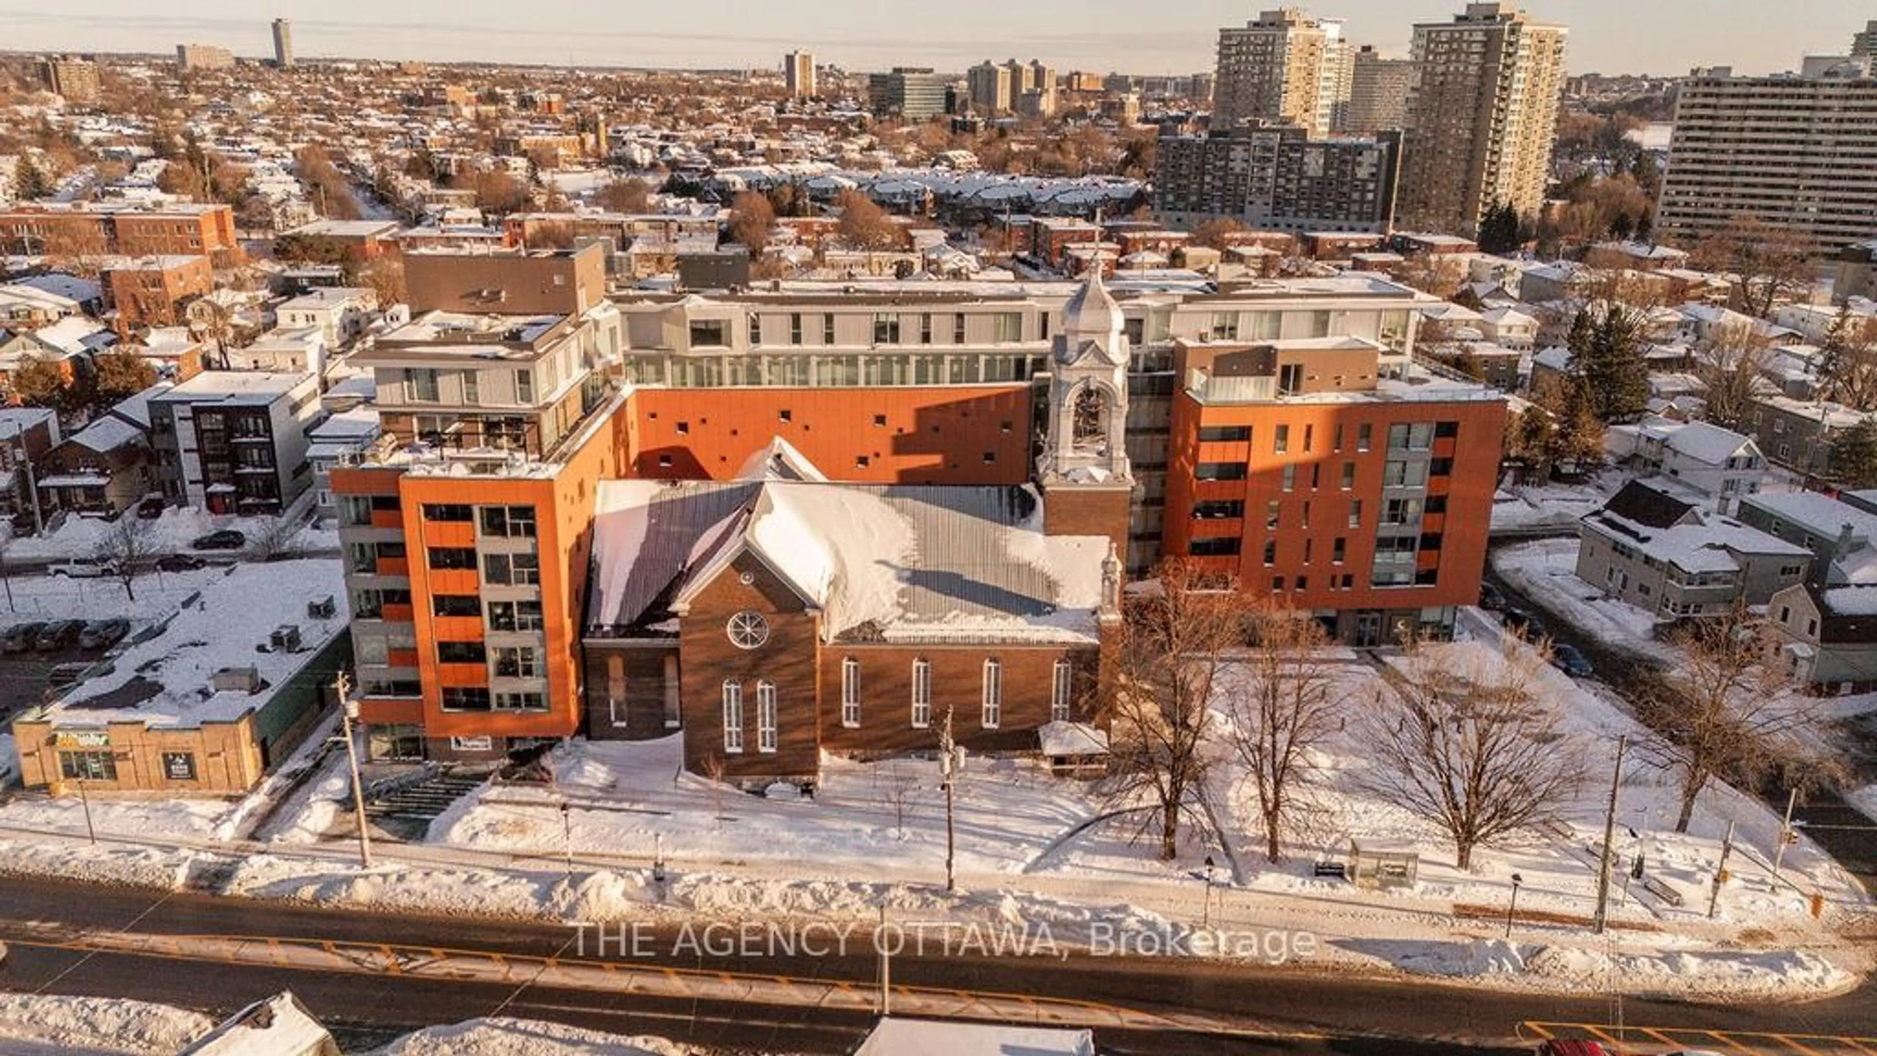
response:
M1691 620L1669 639L1682 654L1640 701L1654 763L1674 774L1687 832L1695 800L1714 778L1751 785L1776 770L1800 784L1826 761L1796 737L1821 722L1815 701L1793 691L1776 631L1744 603Z

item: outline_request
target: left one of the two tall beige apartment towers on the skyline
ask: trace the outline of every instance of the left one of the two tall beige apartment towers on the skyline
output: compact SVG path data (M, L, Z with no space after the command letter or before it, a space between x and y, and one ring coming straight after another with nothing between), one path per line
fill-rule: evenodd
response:
M1218 30L1213 126L1288 120L1327 135L1350 103L1353 54L1340 19L1312 19L1303 8L1261 11L1244 26Z

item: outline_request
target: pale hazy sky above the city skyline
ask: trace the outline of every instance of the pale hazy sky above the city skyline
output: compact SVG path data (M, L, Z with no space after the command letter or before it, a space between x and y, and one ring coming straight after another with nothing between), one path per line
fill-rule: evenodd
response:
M805 47L848 70L1042 58L1057 70L1192 73L1213 66L1218 26L1280 0L0 0L9 51L175 51L218 43L268 54L268 21L293 19L300 56L544 64L779 66ZM1571 26L1573 73L1742 73L1841 54L1877 19L1869 0L1526 0ZM1406 54L1412 24L1464 0L1323 0L1350 38Z

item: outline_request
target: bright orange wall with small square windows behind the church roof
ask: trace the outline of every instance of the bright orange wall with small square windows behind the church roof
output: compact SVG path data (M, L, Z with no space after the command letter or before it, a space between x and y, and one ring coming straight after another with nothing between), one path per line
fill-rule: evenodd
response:
M631 419L638 477L728 479L777 436L835 481L1019 485L1030 468L1027 383L640 389Z

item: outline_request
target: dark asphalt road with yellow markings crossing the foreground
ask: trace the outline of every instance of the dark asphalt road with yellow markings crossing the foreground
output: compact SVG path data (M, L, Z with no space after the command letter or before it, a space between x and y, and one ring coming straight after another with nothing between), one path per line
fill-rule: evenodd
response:
M267 936L282 941L357 941L484 951L509 956L572 958L572 930L456 919L368 915L298 906L156 894L36 879L0 879L0 941L11 947L0 988L128 996L225 1015L291 988L347 1037L385 1035L469 1017L544 1018L593 1030L661 1033L732 1052L847 1052L867 1015L777 1003L670 1000L599 994L554 985L413 979L394 971L310 971L218 960L158 958L69 949L83 932L143 936ZM661 934L663 936L663 934ZM668 936L664 936L668 938ZM589 953L591 956L591 953ZM687 971L762 973L796 981L848 981L867 990L877 979L871 945L848 956L693 956L666 941L649 943L631 966ZM1169 958L1025 960L912 956L893 960L895 986L1029 994L1094 1002L1139 1015L1207 1015L1241 1035L1167 1035L1098 1030L1104 1050L1164 1054L1436 1054L1520 1052L1526 1020L1603 1024L1607 998L1539 998L1460 986L1361 979L1346 971L1263 970ZM1808 1005L1695 1007L1625 1000L1622 1022L1723 1032L1869 1035L1877 992ZM1295 1037L1305 1035L1305 1037ZM1854 1048L1843 1048L1854 1050Z

